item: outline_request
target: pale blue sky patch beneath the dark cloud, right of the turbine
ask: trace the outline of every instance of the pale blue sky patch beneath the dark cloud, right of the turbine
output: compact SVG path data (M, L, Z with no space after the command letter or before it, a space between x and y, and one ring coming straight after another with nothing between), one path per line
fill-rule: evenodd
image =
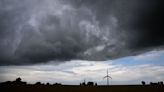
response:
M114 60L113 64L141 65L152 64L164 66L164 51L151 51L138 56L129 56Z

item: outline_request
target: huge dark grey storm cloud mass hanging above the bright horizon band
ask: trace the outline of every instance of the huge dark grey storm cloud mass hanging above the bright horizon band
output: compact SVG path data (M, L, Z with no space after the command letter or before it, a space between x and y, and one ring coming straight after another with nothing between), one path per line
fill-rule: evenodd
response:
M107 60L163 46L160 0L0 0L0 64Z

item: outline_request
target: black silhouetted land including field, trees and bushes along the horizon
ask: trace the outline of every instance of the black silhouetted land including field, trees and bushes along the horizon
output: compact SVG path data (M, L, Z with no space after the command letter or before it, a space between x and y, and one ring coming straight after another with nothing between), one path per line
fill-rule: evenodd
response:
M60 83L27 84L17 78L14 81L0 83L1 92L164 92L163 82L140 85L97 85L94 82L83 82L80 85L63 85Z

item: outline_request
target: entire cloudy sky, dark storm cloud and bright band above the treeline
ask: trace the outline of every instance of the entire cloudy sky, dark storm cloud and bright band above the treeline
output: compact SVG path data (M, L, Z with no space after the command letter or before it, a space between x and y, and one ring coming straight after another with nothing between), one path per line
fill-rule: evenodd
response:
M0 81L164 80L161 0L0 0ZM143 71L144 70L144 71Z

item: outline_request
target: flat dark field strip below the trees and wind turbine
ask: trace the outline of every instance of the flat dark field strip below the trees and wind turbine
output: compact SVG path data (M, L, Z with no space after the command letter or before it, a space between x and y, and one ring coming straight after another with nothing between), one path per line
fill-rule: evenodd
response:
M1 92L164 92L159 85L111 85L111 86L69 86L69 85L1 85ZM2 91L3 90L3 91Z

